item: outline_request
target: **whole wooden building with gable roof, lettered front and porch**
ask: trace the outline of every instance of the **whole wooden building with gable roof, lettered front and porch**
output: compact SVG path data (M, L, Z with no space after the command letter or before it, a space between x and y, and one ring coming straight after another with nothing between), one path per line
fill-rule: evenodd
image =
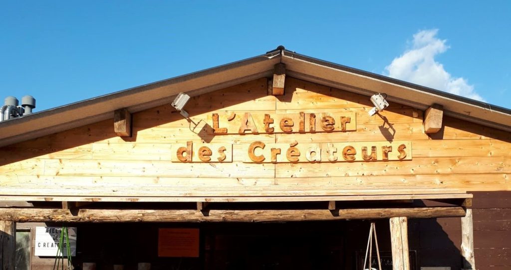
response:
M0 262L25 232L53 269L36 227L65 225L75 268L362 269L374 222L383 269L511 269L510 126L280 47L0 122Z

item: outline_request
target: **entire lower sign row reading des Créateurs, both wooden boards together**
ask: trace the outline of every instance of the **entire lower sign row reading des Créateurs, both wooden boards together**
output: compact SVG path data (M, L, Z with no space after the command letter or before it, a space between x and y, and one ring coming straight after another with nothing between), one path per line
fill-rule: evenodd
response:
M411 160L410 141L367 141L328 143L264 143L237 145L220 143L173 144L172 162L317 163ZM236 150L236 153L233 151Z

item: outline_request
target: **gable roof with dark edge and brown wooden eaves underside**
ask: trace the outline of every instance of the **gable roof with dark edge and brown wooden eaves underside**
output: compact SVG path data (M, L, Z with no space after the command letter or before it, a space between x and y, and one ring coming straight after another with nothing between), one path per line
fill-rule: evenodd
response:
M389 102L425 110L433 103L444 114L511 132L511 110L466 97L392 79L292 51L279 46L266 54L154 82L77 103L0 122L0 146L113 118L113 111L132 113L169 104L179 92L191 96L273 75L274 65L286 64L286 74L363 95L386 93Z

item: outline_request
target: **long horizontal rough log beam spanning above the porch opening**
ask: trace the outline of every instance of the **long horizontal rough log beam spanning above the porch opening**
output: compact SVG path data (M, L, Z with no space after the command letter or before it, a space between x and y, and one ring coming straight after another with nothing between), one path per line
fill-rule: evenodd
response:
M279 222L300 220L369 219L408 216L410 218L461 217L463 207L306 210L209 210L204 216L192 210L2 208L0 219L13 222Z

